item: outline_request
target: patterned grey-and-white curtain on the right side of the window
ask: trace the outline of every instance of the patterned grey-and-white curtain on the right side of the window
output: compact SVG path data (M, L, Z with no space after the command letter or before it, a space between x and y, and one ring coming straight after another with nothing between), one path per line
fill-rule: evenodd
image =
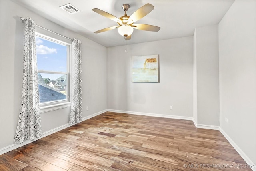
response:
M81 60L81 41L72 41L72 100L70 112L70 124L82 121L82 60Z

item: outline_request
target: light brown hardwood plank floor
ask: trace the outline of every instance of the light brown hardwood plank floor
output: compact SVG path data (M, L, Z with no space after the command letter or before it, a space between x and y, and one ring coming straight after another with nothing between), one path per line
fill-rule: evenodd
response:
M0 171L248 171L220 131L106 112L0 155Z

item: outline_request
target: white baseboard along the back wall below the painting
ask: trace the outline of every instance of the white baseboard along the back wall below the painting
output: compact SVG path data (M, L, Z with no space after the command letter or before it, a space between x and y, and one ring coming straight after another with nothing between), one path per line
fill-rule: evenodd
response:
M186 116L163 115L163 114L156 114L156 113L143 113L143 112L134 112L134 111L112 110L112 109L108 109L107 111L116 112L116 113L127 113L127 114L132 114L132 115L164 117L164 118L183 119L183 120L190 120L190 121L193 120L193 117L186 117Z

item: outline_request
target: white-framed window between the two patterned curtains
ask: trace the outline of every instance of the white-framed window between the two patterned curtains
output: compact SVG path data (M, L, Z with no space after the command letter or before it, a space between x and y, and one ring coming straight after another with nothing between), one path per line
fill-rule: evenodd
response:
M36 34L40 106L69 101L69 47L66 42Z

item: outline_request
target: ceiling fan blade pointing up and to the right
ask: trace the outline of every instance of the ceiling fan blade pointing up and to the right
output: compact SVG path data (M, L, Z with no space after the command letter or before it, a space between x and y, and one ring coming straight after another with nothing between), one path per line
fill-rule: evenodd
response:
M132 24L144 16L146 16L148 13L150 13L152 10L154 10L154 6L151 4L146 4L142 7L140 7L138 10L136 10L128 19L128 24Z

